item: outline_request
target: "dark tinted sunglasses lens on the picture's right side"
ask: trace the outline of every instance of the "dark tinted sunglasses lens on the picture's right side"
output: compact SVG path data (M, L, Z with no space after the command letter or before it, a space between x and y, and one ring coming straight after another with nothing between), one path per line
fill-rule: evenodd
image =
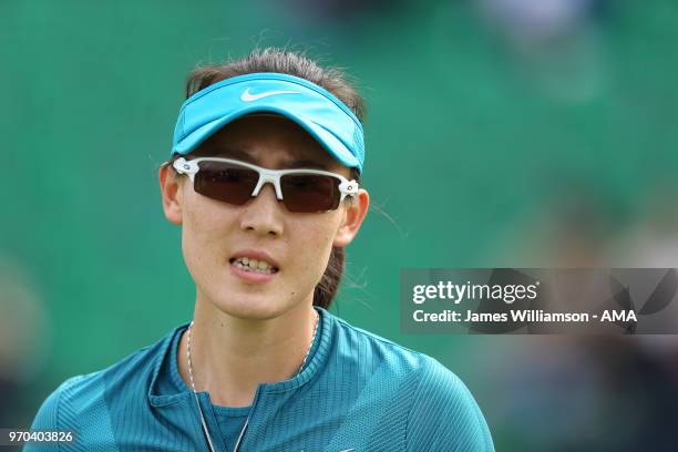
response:
M280 177L282 203L289 212L309 213L339 207L340 181L315 174L290 174Z

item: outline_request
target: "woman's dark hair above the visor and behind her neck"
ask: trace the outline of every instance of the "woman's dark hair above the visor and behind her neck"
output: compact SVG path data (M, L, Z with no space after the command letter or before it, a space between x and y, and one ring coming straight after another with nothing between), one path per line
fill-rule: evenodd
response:
M336 68L321 68L304 54L274 48L254 50L239 60L196 68L186 80L186 97L222 80L255 72L278 72L306 79L336 95L360 122L364 120L364 100L347 81L342 71ZM360 182L356 168L351 170L351 177ZM315 306L329 308L341 281L345 261L343 248L332 248L325 274L314 290Z

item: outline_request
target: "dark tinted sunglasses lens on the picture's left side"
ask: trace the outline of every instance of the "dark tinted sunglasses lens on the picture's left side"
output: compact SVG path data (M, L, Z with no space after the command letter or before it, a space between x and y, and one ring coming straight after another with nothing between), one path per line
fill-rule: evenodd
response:
M259 179L254 170L224 162L199 162L194 189L203 196L242 206L251 197Z

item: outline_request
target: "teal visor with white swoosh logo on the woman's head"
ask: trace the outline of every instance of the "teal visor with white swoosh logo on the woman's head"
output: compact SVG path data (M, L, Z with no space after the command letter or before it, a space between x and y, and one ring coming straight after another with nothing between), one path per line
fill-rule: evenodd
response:
M226 79L188 97L174 129L172 154L191 153L224 125L251 113L290 119L339 163L362 172L362 125L348 106L315 83L275 72Z

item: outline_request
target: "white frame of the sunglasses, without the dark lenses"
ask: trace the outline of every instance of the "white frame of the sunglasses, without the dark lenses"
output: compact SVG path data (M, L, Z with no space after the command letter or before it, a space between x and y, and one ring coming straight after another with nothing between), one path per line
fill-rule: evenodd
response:
M290 168L290 170L269 170L261 166L253 165L251 163L243 162L234 158L222 158L222 157L197 157L192 160L186 160L184 157L179 157L174 161L172 166L178 174L186 174L191 179L191 183L195 183L195 175L201 171L198 163L201 162L224 162L232 163L235 165L244 166L249 170L254 170L259 174L259 179L257 181L257 185L255 189L251 192L251 197L256 197L261 192L261 188L265 184L270 183L276 191L276 198L278 201L282 201L282 188L280 187L280 177L288 174L316 174L321 176L331 176L338 178L339 183L339 192L341 193L341 197L339 198L339 203L341 203L347 196L355 197L358 194L358 182L349 181L343 177L341 174L331 173L329 171L321 170L311 170L311 168ZM327 210L326 210L327 212Z

